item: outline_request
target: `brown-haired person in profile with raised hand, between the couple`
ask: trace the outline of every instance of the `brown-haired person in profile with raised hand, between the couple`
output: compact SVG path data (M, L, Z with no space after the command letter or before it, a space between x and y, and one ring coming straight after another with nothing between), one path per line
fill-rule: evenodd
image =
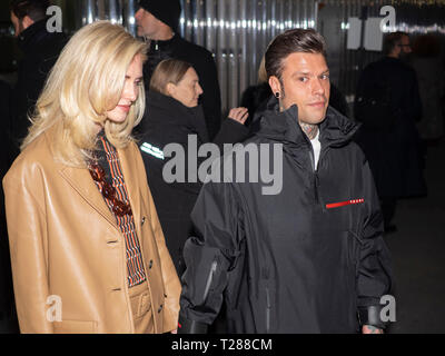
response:
M148 116L141 122L144 162L148 184L155 199L159 220L166 236L178 275L184 271L182 247L191 234L190 212L201 188L201 182L188 181L188 145L190 135L196 135L197 149L210 142L204 119L202 107L198 105L202 95L199 77L190 63L167 59L157 67L150 80L147 110ZM222 151L224 144L243 141L248 134L244 125L248 117L246 108L234 108L221 128L211 140ZM186 152L184 167L186 182L167 182L162 176L164 147L179 144ZM170 158L171 159L171 158ZM197 167L204 161L197 157Z

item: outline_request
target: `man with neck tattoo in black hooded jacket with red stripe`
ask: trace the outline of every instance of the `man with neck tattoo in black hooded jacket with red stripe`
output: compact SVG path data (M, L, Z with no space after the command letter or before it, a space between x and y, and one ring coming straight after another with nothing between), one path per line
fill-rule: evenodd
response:
M211 174L231 169L224 182L204 185L191 214L197 236L184 250L180 333L205 332L222 301L229 333L385 327L392 271L383 218L369 166L350 141L356 126L328 108L325 58L314 30L286 31L268 47L276 98L245 149L212 166ZM271 161L278 189L264 185L269 167L261 165Z

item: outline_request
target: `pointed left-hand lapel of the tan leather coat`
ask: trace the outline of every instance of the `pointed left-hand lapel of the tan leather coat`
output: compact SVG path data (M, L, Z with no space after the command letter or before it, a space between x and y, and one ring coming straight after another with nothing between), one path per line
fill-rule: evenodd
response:
M115 216L108 209L102 195L87 169L65 166L59 172L92 208L115 228L118 228Z

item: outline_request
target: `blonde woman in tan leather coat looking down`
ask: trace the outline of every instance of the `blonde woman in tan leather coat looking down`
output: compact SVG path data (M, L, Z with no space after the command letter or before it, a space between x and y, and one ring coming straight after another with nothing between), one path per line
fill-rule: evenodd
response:
M22 333L166 333L179 279L130 132L146 48L99 21L68 42L3 179Z

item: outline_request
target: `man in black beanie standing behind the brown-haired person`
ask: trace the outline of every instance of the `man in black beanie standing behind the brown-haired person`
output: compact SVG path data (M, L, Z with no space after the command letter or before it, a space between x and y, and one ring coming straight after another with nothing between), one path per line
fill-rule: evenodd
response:
M199 77L204 93L200 97L209 138L220 128L221 99L215 60L210 51L191 43L178 33L181 7L178 0L139 0L135 14L137 34L150 41L148 60L144 66L146 92L156 66L174 58L190 63ZM146 112L147 116L147 112ZM137 128L144 132L146 116Z

